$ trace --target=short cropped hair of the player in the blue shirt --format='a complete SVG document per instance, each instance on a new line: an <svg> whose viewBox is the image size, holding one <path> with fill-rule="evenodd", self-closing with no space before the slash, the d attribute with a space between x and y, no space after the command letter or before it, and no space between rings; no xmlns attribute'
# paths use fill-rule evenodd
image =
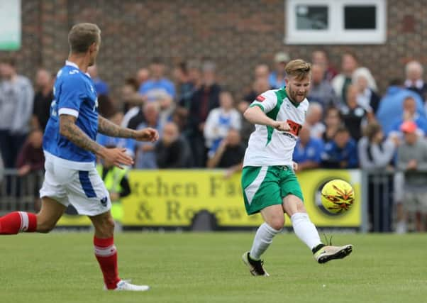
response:
<svg viewBox="0 0 427 303"><path fill-rule="evenodd" d="M90 45L101 42L101 30L94 23L77 23L68 33L71 53L86 53Z"/></svg>

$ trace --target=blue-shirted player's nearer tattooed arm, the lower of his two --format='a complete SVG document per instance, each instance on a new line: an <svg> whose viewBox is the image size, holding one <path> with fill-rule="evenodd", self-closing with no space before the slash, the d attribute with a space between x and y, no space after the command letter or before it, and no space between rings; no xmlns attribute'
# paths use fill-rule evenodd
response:
<svg viewBox="0 0 427 303"><path fill-rule="evenodd" d="M60 115L60 134L79 148L89 150L98 157L113 162L119 168L121 165L133 165L133 159L126 154L126 148L105 148L93 141L76 125L76 117Z"/></svg>

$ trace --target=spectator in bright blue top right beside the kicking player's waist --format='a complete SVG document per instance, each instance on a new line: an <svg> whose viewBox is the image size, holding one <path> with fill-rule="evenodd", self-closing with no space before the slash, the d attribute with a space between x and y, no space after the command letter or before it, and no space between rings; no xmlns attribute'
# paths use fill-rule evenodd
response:
<svg viewBox="0 0 427 303"><path fill-rule="evenodd" d="M299 131L292 160L298 163L298 171L310 170L320 166L323 141L311 136L309 124L304 124Z"/></svg>

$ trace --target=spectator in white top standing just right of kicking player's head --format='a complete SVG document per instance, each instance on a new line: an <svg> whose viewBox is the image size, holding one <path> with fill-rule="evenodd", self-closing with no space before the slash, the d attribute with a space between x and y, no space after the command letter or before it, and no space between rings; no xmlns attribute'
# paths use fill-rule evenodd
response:
<svg viewBox="0 0 427 303"><path fill-rule="evenodd" d="M353 53L344 53L341 57L341 72L332 79L332 87L342 104L345 104L347 96L347 87L351 84L353 72L359 63Z"/></svg>

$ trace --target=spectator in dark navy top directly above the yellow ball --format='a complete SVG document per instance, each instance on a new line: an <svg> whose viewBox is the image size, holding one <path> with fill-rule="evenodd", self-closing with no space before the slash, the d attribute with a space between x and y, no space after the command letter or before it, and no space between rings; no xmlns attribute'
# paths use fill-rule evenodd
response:
<svg viewBox="0 0 427 303"><path fill-rule="evenodd" d="M357 145L345 126L340 126L333 141L325 144L321 160L324 168L357 167Z"/></svg>

